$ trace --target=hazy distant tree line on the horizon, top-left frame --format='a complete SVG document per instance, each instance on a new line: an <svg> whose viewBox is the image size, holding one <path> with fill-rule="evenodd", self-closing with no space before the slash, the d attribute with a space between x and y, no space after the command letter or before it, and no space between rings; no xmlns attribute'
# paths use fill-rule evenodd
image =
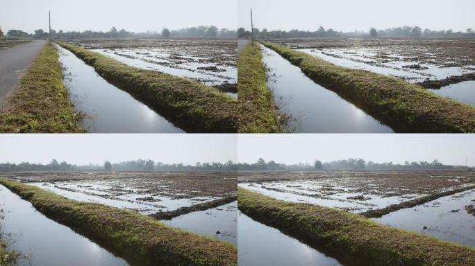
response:
<svg viewBox="0 0 475 266"><path fill-rule="evenodd" d="M0 33L3 33L0 28ZM23 30L12 29L8 30L6 33L8 37L13 38L22 38L22 39L47 39L49 37L49 32L38 29L34 33L26 33ZM0 37L2 34L0 34ZM168 28L163 28L159 33L156 31L147 31L144 33L134 33L122 29L117 29L112 27L109 31L92 31L84 30L80 31L63 31L63 30L53 30L51 29L51 37L53 39L88 39L88 38L126 38L126 37L137 37L137 38L160 38L160 37L237 37L238 33L236 30L228 30L227 28L217 28L216 26L197 26L190 28L181 28L178 30L169 30Z"/></svg>

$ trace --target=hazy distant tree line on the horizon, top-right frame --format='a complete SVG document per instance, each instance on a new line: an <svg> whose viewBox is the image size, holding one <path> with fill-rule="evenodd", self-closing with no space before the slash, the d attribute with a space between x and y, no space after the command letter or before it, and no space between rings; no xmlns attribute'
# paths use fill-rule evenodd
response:
<svg viewBox="0 0 475 266"><path fill-rule="evenodd" d="M453 38L453 37L475 37L475 31L467 28L465 32L453 30L431 30L426 28L422 30L419 26L403 26L397 28L387 28L377 30L370 28L367 32L355 30L353 32L344 33L342 31L333 30L333 28L325 29L319 26L317 30L260 30L254 28L254 37L260 39L279 39L279 38L298 38L298 37L433 37L433 38ZM238 28L238 37L249 38L251 31L244 28Z"/></svg>

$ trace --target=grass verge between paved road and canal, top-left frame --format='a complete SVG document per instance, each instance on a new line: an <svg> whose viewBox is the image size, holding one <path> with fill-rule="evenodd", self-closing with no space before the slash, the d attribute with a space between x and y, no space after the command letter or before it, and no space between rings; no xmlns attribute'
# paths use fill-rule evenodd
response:
<svg viewBox="0 0 475 266"><path fill-rule="evenodd" d="M63 84L58 51L46 44L1 111L0 132L83 132L81 119Z"/></svg>

